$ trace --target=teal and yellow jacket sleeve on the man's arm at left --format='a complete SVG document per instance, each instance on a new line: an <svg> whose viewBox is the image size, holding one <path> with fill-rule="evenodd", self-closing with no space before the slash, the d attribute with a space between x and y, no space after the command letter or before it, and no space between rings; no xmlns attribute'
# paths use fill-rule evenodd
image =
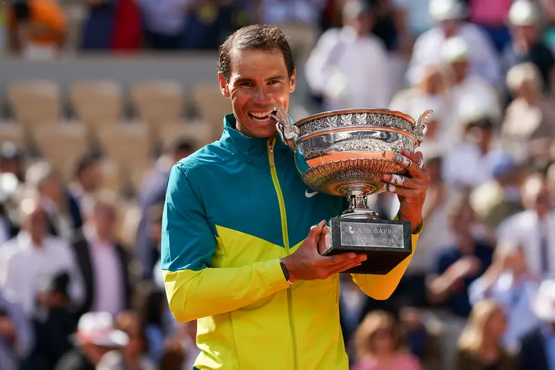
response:
<svg viewBox="0 0 555 370"><path fill-rule="evenodd" d="M278 258L212 267L216 238L183 165L171 169L162 220L162 270L169 308L187 322L237 310L289 287Z"/></svg>

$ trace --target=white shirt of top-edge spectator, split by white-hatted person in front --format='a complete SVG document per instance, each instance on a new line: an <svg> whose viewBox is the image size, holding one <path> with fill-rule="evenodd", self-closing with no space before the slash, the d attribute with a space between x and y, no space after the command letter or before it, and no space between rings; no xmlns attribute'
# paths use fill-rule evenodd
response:
<svg viewBox="0 0 555 370"><path fill-rule="evenodd" d="M501 66L488 35L479 26L469 23L460 26L458 35L471 45L472 73L483 76L495 86L499 85L502 82ZM416 39L407 70L407 80L411 85L416 85L422 79L427 67L437 66L442 62L441 50L445 40L445 34L439 27L422 33Z"/></svg>

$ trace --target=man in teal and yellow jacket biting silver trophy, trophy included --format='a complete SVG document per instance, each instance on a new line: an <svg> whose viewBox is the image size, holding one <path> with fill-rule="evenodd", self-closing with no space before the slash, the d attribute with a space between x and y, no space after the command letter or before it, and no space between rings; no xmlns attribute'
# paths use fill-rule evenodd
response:
<svg viewBox="0 0 555 370"><path fill-rule="evenodd" d="M339 274L379 300L398 286L422 230L427 112L294 122L296 69L273 26L230 35L218 69L233 112L219 141L171 169L162 224L171 312L197 320L194 369L347 370ZM393 221L366 206L381 191L398 194Z"/></svg>

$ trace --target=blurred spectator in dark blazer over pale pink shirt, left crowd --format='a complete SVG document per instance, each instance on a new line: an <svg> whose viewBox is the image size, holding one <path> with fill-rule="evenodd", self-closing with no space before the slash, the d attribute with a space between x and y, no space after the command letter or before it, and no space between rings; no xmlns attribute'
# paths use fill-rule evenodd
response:
<svg viewBox="0 0 555 370"><path fill-rule="evenodd" d="M115 241L117 197L98 194L85 208L87 222L73 248L85 283L85 298L78 317L85 312L118 314L130 308L130 256Z"/></svg>

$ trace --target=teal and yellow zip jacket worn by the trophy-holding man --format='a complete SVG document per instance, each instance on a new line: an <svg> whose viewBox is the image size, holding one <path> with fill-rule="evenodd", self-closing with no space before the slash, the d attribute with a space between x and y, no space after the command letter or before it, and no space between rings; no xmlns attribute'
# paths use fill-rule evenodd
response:
<svg viewBox="0 0 555 370"><path fill-rule="evenodd" d="M198 319L195 368L347 370L339 276L290 287L279 263L345 201L314 195L279 137L246 137L235 122L225 116L221 140L180 160L168 181L162 269L173 315ZM410 260L352 278L386 299Z"/></svg>

